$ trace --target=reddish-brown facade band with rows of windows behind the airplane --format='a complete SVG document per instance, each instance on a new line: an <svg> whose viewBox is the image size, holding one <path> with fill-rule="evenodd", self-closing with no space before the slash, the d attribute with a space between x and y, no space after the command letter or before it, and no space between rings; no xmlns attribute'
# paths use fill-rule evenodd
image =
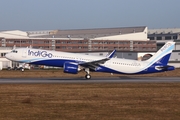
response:
<svg viewBox="0 0 180 120"><path fill-rule="evenodd" d="M126 40L63 40L63 39L1 39L2 47L27 47L46 50L81 51L156 51L156 41Z"/></svg>

